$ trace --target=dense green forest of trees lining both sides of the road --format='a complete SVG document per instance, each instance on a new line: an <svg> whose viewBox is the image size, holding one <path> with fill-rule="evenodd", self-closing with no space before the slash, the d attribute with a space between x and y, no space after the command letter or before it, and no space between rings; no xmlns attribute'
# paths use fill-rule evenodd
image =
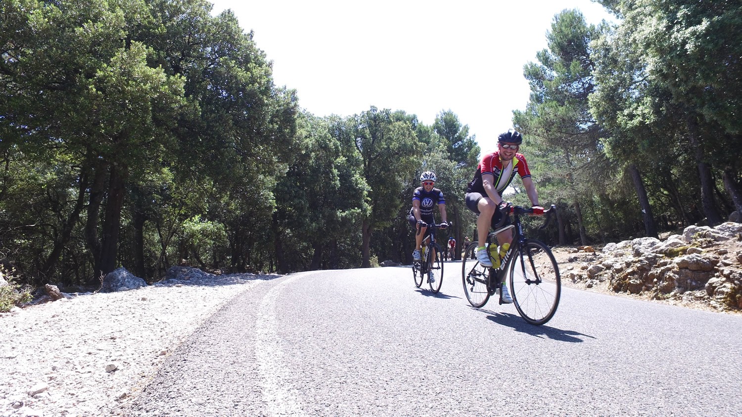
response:
<svg viewBox="0 0 742 417"><path fill-rule="evenodd" d="M206 0L0 1L0 258L26 284L409 263L424 170L449 233L473 236L480 148L451 110L309 114ZM742 4L600 3L617 24L564 10L524 63L513 126L559 207L529 233L604 244L726 221L742 209Z"/></svg>

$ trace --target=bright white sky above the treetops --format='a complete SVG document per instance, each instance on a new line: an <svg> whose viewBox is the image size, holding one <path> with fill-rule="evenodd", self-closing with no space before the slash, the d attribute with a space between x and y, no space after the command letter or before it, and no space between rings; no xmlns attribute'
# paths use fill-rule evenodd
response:
<svg viewBox="0 0 742 417"><path fill-rule="evenodd" d="M232 9L273 61L277 85L316 116L404 110L433 124L452 110L494 150L528 103L523 65L546 47L554 15L614 20L590 0L211 0ZM528 138L526 138L528 140Z"/></svg>

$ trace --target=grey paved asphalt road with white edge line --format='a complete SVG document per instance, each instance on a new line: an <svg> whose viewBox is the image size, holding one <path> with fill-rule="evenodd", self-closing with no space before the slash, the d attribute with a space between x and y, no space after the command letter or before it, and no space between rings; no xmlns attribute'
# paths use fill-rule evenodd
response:
<svg viewBox="0 0 742 417"><path fill-rule="evenodd" d="M298 273L220 310L126 416L740 416L742 316L565 288L467 304L408 267Z"/></svg>

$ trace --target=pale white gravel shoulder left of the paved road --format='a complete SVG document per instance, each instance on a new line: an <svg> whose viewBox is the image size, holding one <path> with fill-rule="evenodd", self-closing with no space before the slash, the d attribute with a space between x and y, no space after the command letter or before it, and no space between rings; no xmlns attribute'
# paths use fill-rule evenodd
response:
<svg viewBox="0 0 742 417"><path fill-rule="evenodd" d="M223 304L277 277L171 279L1 313L0 417L108 413Z"/></svg>

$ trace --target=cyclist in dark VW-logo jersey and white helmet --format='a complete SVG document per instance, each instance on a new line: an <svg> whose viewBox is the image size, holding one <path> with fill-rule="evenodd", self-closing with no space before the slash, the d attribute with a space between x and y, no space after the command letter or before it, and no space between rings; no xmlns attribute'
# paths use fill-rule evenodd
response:
<svg viewBox="0 0 742 417"><path fill-rule="evenodd" d="M441 212L441 229L448 227L446 221L446 199L444 199L441 190L433 187L436 184L436 174L432 171L425 171L420 176L420 181L422 187L415 189L413 193L413 208L410 209L410 214L407 216L410 224L419 230L419 233L415 235L415 251L413 252L413 259L416 261L422 259L420 245L422 244L422 239L425 237L427 224L436 223L436 219L433 217L433 207L436 204L438 205L438 210Z"/></svg>

